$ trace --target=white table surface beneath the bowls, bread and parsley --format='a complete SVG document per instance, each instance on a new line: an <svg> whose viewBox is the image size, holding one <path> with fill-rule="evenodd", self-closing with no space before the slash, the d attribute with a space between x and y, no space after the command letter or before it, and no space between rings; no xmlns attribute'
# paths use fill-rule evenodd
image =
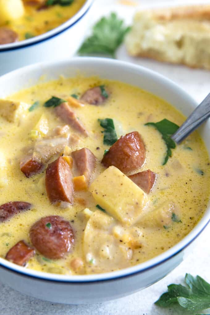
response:
<svg viewBox="0 0 210 315"><path fill-rule="evenodd" d="M136 1L142 7L157 5L156 0ZM179 1L183 3L183 1ZM184 1L185 3L201 3L201 1ZM210 2L210 1L202 1ZM162 3L174 4L174 0L165 0ZM123 6L115 0L96 0L91 9L92 21L110 11L117 11L118 14L130 23L134 7ZM97 15L95 14L97 10ZM98 14L99 12L99 14ZM210 92L210 72L204 70L189 69L184 66L173 66L158 63L152 60L134 59L128 57L125 47L122 46L117 58L153 69L178 83L198 102ZM195 314L196 312L185 312L183 308L173 306L169 309L159 308L154 302L166 291L167 285L181 283L186 272L192 275L200 275L210 282L210 246L209 246L210 225L201 233L194 243L192 252L185 260L171 272L167 277L158 283L119 300L107 303L97 303L87 306L62 305L37 300L10 289L7 285L0 283L0 315L182 315ZM24 284L23 284L24 285ZM197 312L199 313L199 312ZM209 314L210 309L203 312Z"/></svg>

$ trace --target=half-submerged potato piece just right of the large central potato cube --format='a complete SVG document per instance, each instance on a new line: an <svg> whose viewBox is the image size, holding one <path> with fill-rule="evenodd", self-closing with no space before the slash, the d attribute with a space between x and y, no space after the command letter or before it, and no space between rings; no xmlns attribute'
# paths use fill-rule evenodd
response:
<svg viewBox="0 0 210 315"><path fill-rule="evenodd" d="M172 224L174 209L174 203L172 201L166 201L154 211L145 215L139 223L146 227L168 227Z"/></svg>

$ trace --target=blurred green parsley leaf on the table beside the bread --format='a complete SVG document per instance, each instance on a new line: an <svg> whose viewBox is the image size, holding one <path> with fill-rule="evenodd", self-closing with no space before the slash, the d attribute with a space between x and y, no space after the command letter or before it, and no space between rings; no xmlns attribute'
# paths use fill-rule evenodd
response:
<svg viewBox="0 0 210 315"><path fill-rule="evenodd" d="M94 26L92 35L84 41L78 53L102 54L115 58L116 49L122 44L125 34L130 27L124 26L116 13L109 17L102 17Z"/></svg>

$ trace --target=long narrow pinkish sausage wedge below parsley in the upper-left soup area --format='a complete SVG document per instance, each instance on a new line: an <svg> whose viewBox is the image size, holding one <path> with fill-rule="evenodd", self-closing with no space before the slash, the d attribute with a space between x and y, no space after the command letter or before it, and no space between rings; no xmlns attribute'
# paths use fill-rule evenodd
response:
<svg viewBox="0 0 210 315"><path fill-rule="evenodd" d="M73 112L67 102L61 103L59 106L55 107L56 114L72 128L79 131L81 134L88 136L87 131L82 126L82 124L77 119L75 112Z"/></svg>

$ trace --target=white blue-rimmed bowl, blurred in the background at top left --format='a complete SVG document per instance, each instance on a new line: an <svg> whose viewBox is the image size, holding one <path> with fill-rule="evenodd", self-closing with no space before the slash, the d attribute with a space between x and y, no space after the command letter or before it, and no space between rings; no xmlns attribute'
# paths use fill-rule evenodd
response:
<svg viewBox="0 0 210 315"><path fill-rule="evenodd" d="M86 0L71 19L51 31L24 41L0 45L0 75L35 62L72 57L87 31L88 11L92 3L93 0Z"/></svg>

